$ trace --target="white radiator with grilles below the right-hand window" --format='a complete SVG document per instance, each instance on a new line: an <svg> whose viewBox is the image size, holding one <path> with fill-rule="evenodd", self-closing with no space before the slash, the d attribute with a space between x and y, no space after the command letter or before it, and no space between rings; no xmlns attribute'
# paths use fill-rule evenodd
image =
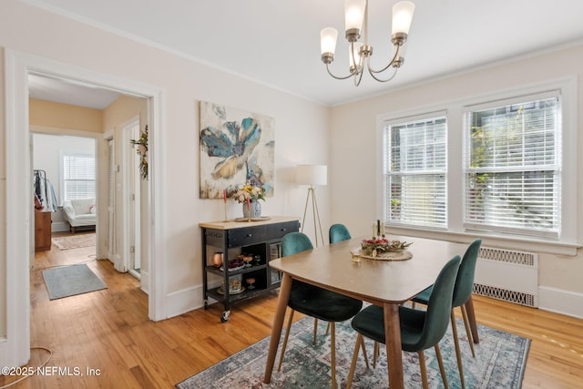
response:
<svg viewBox="0 0 583 389"><path fill-rule="evenodd" d="M506 302L538 307L538 254L480 248L474 292Z"/></svg>

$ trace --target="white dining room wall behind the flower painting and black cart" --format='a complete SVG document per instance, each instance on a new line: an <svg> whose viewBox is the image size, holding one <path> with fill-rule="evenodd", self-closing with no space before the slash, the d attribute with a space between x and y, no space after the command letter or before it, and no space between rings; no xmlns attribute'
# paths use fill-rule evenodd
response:
<svg viewBox="0 0 583 389"><path fill-rule="evenodd" d="M193 41L196 45L196 41ZM294 97L248 79L174 56L150 46L86 26L16 0L0 4L0 49L9 48L67 66L84 68L163 91L159 149L160 176L166 199L161 223L167 277L163 304L166 316L199 307L200 230L199 222L221 220L221 200L200 200L199 193L199 113L200 100L258 112L275 118L275 195L263 206L265 215L302 216L305 188L293 183L292 168L299 163L326 163L328 160L329 108ZM4 63L4 61L2 61ZM3 73L4 74L4 73ZM0 94L5 80L0 78ZM1 101L1 100L0 100ZM4 104L0 107L4 126ZM5 147L5 128L0 127L0 146ZM2 153L0 189L5 193L6 171ZM319 190L321 217L329 220L328 190ZM5 196L3 196L5 199ZM240 214L235 201L229 204L230 217ZM10 204L5 206L9 207ZM4 205L3 205L4 207ZM4 213L0 225L5 224ZM9 228L13 226L8 226ZM1 230L5 239L5 230ZM309 231L308 231L309 232ZM23 259L24 260L24 259ZM26 261L26 260L25 260ZM4 271L5 251L0 252ZM3 274L0 271L0 275ZM0 292L2 293L2 292ZM5 312L6 296L0 294L0 311ZM3 319L3 315L0 315ZM23 323L26 325L26 323ZM0 322L0 338L5 320Z"/></svg>

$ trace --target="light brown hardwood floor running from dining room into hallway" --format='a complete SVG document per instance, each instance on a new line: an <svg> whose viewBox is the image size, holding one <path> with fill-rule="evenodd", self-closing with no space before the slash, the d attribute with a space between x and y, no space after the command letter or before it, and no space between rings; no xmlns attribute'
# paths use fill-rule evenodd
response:
<svg viewBox="0 0 583 389"><path fill-rule="evenodd" d="M220 304L151 322L138 280L109 261L95 261L94 253L54 246L36 253L31 344L52 356L46 375L34 374L12 388L172 388L271 333L276 292L235 304L226 323L220 322ZM41 271L86 261L107 289L49 301ZM481 296L475 307L478 322L532 339L524 388L583 388L583 320ZM36 368L47 356L33 349L28 366ZM15 378L0 376L0 386Z"/></svg>

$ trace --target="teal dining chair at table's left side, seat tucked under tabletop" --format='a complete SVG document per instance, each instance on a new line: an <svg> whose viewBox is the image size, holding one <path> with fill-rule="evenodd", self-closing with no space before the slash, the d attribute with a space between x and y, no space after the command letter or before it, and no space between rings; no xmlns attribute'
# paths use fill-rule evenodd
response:
<svg viewBox="0 0 583 389"><path fill-rule="evenodd" d="M281 241L281 255L287 257L296 252L312 250L312 241L302 232L291 232L286 234ZM281 346L280 363L278 371L281 370L283 355L288 342L288 336L292 328L293 312L302 312L314 319L320 319L331 323L331 365L332 365L332 388L336 387L336 331L335 322L344 322L351 319L363 308L363 302L344 296L343 294L328 291L309 283L292 280L292 290L288 300L288 307L292 309L288 320L287 330ZM314 326L315 331L315 326Z"/></svg>

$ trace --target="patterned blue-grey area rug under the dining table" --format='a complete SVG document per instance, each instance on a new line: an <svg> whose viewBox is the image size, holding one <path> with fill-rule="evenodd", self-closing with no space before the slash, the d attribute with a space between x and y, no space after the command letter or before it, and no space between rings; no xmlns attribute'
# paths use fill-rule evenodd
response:
<svg viewBox="0 0 583 389"><path fill-rule="evenodd" d="M478 326L480 343L476 344L476 358L472 357L463 322L458 322L460 347L464 363L465 387L467 388L520 388L527 363L530 340ZM313 319L303 318L292 325L288 349L285 353L281 372L277 372L279 353L275 360L271 384L262 384L265 360L270 337L252 344L250 347L231 355L210 368L176 384L179 389L193 388L324 388L330 387L330 335L325 336L325 323L319 328L317 345L312 344ZM285 331L285 330L284 330ZM356 333L350 321L336 324L336 380L341 388L346 386L350 370ZM281 334L281 339L283 339ZM461 387L451 325L440 343L444 357L447 382L450 388ZM281 344L280 344L281 349ZM373 343L366 343L371 368L367 369L363 355L359 356L354 374L353 388L386 388L387 361L385 353L372 368ZM383 350L383 348L381 348ZM429 387L443 387L435 350L425 351ZM404 382L406 388L421 387L421 374L416 353L403 353Z"/></svg>

